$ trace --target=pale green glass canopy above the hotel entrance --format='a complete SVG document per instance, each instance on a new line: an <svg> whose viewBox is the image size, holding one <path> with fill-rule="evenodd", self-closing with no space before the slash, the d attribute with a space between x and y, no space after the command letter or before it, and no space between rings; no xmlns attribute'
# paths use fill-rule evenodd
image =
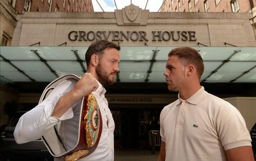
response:
<svg viewBox="0 0 256 161"><path fill-rule="evenodd" d="M1 82L51 82L65 73L83 75L84 54L78 46L1 46ZM176 47L121 47L118 82L165 82L168 53ZM202 82L256 83L255 47L192 47L204 59Z"/></svg>

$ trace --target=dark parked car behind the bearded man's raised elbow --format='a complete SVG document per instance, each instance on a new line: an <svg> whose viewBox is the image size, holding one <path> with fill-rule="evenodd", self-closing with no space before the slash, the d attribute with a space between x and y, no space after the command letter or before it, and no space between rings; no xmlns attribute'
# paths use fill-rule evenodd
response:
<svg viewBox="0 0 256 161"><path fill-rule="evenodd" d="M41 138L25 144L17 144L13 132L15 126L26 111L15 113L11 121L1 132L0 161L53 161L52 155Z"/></svg>

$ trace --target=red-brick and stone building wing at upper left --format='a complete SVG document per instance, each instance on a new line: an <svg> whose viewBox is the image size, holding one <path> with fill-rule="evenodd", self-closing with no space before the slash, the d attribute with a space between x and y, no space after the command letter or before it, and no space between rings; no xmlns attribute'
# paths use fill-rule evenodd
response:
<svg viewBox="0 0 256 161"><path fill-rule="evenodd" d="M1 0L1 46L12 43L12 35L17 25L17 14L25 11L38 12L93 12L91 0Z"/></svg>

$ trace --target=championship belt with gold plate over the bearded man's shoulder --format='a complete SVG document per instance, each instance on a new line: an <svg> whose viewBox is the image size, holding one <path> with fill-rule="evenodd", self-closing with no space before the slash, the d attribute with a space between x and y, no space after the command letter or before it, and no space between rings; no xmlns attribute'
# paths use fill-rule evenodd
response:
<svg viewBox="0 0 256 161"><path fill-rule="evenodd" d="M74 79L77 82L81 77L75 74L65 74L52 81L45 88L39 103L49 96L49 93L61 82ZM62 94L62 93L59 93ZM74 117L73 117L74 118ZM74 118L76 119L76 118ZM64 158L65 161L76 161L90 155L96 149L102 133L102 116L99 105L93 93L82 98L79 115L79 128L77 129L78 140L74 147L67 149L58 133L61 121L47 131L41 138L49 153L55 158ZM74 134L74 133L73 133Z"/></svg>

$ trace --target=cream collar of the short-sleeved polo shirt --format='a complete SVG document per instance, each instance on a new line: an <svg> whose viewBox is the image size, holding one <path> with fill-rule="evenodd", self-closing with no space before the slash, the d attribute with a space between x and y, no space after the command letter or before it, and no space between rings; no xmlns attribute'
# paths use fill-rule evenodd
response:
<svg viewBox="0 0 256 161"><path fill-rule="evenodd" d="M186 102L189 102L193 105L197 105L199 102L201 102L205 96L206 96L207 92L204 90L204 87L201 86L201 88L194 93L192 96L190 96L188 99L186 99ZM178 105L183 101L183 99L180 98L180 93L178 94Z"/></svg>

